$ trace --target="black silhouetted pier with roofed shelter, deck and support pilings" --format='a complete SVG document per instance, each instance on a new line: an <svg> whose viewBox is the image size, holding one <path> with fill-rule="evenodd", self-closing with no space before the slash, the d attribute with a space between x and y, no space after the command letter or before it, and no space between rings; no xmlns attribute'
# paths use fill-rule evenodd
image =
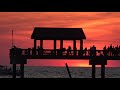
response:
<svg viewBox="0 0 120 90"><path fill-rule="evenodd" d="M86 36L82 28L44 28L35 27L31 35L34 45L32 48L21 49L13 47L10 49L10 64L13 65L13 78L16 78L16 64L20 64L20 78L24 78L24 64L28 59L75 59L89 60L92 65L92 78L95 78L96 65L101 65L101 78L105 78L105 65L108 60L120 60L120 51L112 54L111 50L84 49ZM44 49L44 40L53 40L53 49ZM57 40L60 40L60 48L57 49ZM64 48L63 41L73 41L73 49ZM80 48L76 48L76 40L79 40ZM39 45L37 45L39 41ZM27 42L27 41L26 41Z"/></svg>

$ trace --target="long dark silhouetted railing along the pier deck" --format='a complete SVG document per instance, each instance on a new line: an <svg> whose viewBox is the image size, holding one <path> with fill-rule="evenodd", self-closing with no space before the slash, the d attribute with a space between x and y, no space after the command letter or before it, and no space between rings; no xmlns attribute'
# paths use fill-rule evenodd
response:
<svg viewBox="0 0 120 90"><path fill-rule="evenodd" d="M120 52L110 50L60 50L60 49L10 49L10 55L58 55L58 56L120 56Z"/></svg>

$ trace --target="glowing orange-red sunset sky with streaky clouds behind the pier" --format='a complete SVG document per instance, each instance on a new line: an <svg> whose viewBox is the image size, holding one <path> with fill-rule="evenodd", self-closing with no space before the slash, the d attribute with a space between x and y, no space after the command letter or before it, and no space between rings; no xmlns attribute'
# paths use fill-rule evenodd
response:
<svg viewBox="0 0 120 90"><path fill-rule="evenodd" d="M95 45L102 49L104 45L120 45L120 12L0 12L0 64L10 65L12 30L17 47L31 48L34 27L83 28L86 35L84 48ZM72 41L66 41L64 47L68 45L72 46ZM53 42L45 41L44 48L53 48ZM70 66L89 66L88 61L83 60L28 60L28 65L65 66L66 62ZM118 67L120 61L109 61L107 66Z"/></svg>

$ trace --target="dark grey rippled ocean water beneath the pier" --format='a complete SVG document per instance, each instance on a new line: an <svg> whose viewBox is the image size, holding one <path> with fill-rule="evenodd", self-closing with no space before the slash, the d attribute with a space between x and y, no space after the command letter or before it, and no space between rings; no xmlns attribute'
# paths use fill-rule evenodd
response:
<svg viewBox="0 0 120 90"><path fill-rule="evenodd" d="M17 67L19 69L19 67ZM90 67L69 67L72 78L92 78ZM69 78L66 67L34 67L25 66L25 78ZM96 78L101 78L101 69L97 67ZM120 78L119 67L107 67L105 69L106 78ZM4 75L0 78L12 78L11 75ZM19 78L19 77L17 77Z"/></svg>

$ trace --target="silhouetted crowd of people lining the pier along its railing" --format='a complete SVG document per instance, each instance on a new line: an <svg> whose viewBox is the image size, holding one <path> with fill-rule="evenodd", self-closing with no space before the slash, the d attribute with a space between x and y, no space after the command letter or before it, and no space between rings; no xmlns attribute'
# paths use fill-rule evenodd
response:
<svg viewBox="0 0 120 90"><path fill-rule="evenodd" d="M16 46L13 46L10 54L11 55L22 55L23 54L23 49L18 48ZM47 51L45 49L43 49L42 47L38 46L36 49L33 48L28 48L28 49L24 49L24 54L25 55L45 55L47 53ZM56 49L56 50L51 50L49 52L49 55L81 55L81 56L96 56L97 53L99 53L99 55L102 56L119 56L120 55L120 46L113 46L112 44L108 47L104 46L103 50L97 50L96 46L93 45L91 46L89 49L84 48L83 50L77 50L77 48L75 48L74 50L72 50L71 46L68 46L68 48L60 48L60 49Z"/></svg>

